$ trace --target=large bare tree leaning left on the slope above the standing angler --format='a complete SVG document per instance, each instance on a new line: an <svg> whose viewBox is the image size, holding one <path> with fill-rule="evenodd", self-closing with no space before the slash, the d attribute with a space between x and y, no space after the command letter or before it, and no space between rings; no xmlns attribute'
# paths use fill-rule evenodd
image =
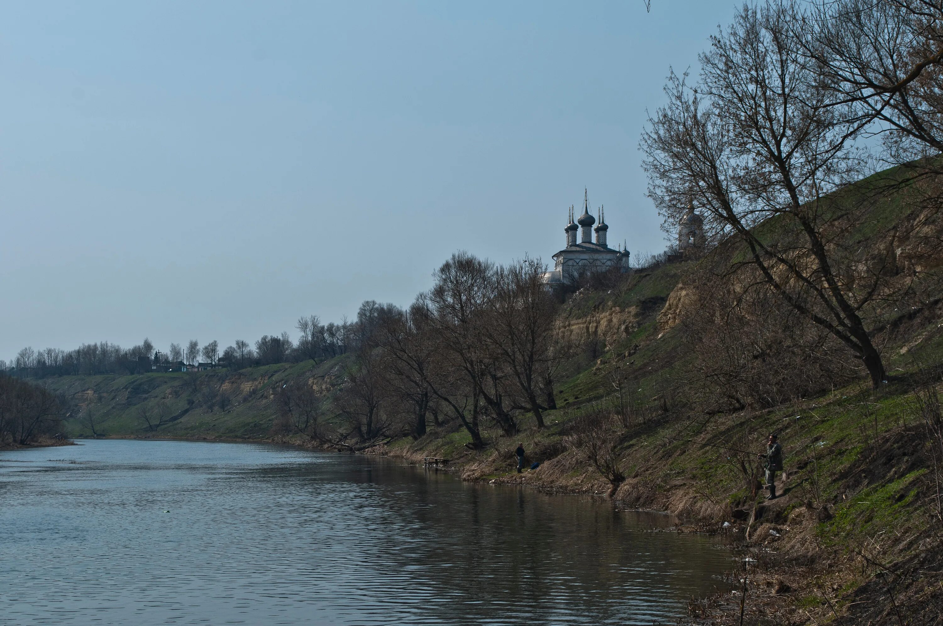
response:
<svg viewBox="0 0 943 626"><path fill-rule="evenodd" d="M667 226L693 206L715 235L741 241L747 256L735 270L755 268L856 354L877 387L885 366L862 309L884 295L886 259L862 262L842 247L860 214L835 193L864 172L851 145L862 129L787 35L800 17L788 2L742 8L701 56L700 84L671 75L669 104L641 141L650 195Z"/></svg>

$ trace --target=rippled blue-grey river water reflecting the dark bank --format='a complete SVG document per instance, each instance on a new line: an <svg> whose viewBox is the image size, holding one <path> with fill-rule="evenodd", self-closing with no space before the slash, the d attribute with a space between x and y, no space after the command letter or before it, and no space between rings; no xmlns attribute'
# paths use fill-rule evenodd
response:
<svg viewBox="0 0 943 626"><path fill-rule="evenodd" d="M0 624L652 624L730 552L598 498L264 444L0 452Z"/></svg>

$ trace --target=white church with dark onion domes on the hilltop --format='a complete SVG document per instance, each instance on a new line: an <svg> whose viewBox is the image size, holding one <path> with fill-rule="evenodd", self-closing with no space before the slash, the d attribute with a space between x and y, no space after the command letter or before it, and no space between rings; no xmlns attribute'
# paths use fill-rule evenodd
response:
<svg viewBox="0 0 943 626"><path fill-rule="evenodd" d="M609 230L605 223L603 207L599 209L599 223L589 215L589 202L586 189L583 191L583 215L573 222L573 207L570 207L570 222L563 231L567 234L567 247L554 255L553 272L544 273L543 280L547 285L571 283L582 275L591 272L606 272L618 268L620 272L631 272L629 267L629 251L620 247L613 250L605 243L605 236ZM579 224L579 225L577 225ZM580 232L580 240L576 240L576 231ZM593 241L593 233L596 240Z"/></svg>

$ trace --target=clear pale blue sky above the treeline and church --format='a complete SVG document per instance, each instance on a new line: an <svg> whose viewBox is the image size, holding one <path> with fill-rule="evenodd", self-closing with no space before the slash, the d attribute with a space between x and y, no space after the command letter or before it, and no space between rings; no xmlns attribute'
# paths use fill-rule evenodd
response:
<svg viewBox="0 0 943 626"><path fill-rule="evenodd" d="M3 2L0 358L405 305L550 261L584 186L657 252L645 110L735 6Z"/></svg>

